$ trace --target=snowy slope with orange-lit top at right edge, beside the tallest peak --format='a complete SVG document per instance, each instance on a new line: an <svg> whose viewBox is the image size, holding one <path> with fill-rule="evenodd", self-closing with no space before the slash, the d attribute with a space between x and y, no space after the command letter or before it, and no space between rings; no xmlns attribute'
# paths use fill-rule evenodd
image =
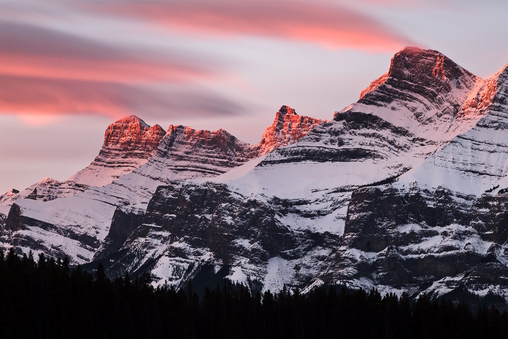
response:
<svg viewBox="0 0 508 339"><path fill-rule="evenodd" d="M444 184L476 196L503 180L508 174L508 65L475 88L462 107L462 115L480 117L476 124L401 180L429 189Z"/></svg>

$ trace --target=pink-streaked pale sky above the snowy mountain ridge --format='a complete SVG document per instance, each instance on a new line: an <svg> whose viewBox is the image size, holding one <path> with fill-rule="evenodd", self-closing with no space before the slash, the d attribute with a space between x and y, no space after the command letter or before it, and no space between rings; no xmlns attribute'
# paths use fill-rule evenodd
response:
<svg viewBox="0 0 508 339"><path fill-rule="evenodd" d="M404 46L489 77L507 16L505 0L0 0L0 194L67 179L126 115L249 143L282 105L331 119Z"/></svg>

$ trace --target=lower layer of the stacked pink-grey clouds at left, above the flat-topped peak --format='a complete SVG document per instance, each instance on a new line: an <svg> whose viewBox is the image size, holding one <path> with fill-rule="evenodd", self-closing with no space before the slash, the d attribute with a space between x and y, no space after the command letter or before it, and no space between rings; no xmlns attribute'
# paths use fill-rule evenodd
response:
<svg viewBox="0 0 508 339"><path fill-rule="evenodd" d="M239 114L244 108L200 90L169 91L116 82L0 75L0 111L7 114L102 114L114 118Z"/></svg>

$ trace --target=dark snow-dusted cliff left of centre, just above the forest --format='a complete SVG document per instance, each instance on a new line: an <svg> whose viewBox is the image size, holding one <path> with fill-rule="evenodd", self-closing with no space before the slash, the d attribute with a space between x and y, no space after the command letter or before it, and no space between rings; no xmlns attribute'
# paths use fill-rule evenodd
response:
<svg viewBox="0 0 508 339"><path fill-rule="evenodd" d="M124 267L133 272L150 270L158 282L176 285L210 264L215 272L226 265L230 278L248 276L251 284L276 286L279 279L291 283L289 276L277 274L283 262L299 267L296 279L310 283L315 267L339 237L292 229L279 222L284 213L288 211L281 205L242 196L223 183L160 186L142 222L117 254L107 257L99 252L96 259L114 258L111 272ZM120 236L113 227L109 234ZM268 261L272 264L265 267Z"/></svg>

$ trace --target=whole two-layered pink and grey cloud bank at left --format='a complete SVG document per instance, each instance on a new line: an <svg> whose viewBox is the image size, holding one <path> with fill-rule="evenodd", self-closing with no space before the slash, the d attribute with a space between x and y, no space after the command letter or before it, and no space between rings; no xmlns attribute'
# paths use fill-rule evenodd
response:
<svg viewBox="0 0 508 339"><path fill-rule="evenodd" d="M210 57L126 48L10 21L0 22L0 47L3 113L119 117L243 111L239 104L194 85L215 78L224 68ZM181 89L175 89L178 84Z"/></svg>

